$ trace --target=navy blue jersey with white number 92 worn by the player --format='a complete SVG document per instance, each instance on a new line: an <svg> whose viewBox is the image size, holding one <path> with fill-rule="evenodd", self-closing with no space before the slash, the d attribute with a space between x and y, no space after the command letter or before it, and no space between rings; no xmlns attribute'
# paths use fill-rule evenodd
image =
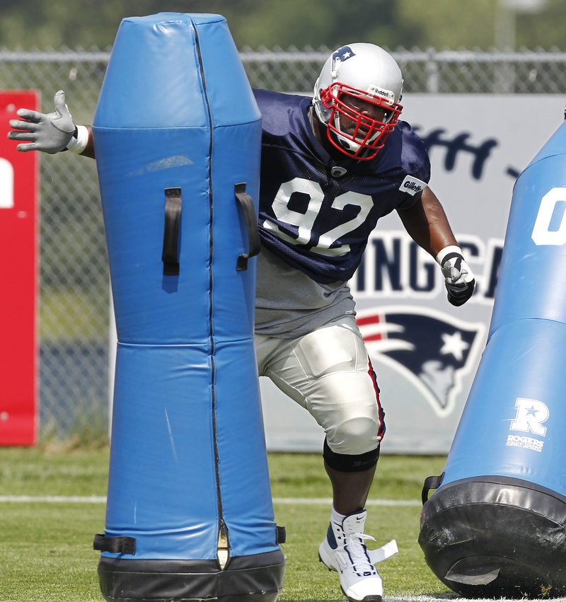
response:
<svg viewBox="0 0 566 602"><path fill-rule="evenodd" d="M262 114L262 243L316 282L345 282L378 219L410 207L428 183L424 144L398 122L375 158L336 161L313 134L311 98L254 94Z"/></svg>

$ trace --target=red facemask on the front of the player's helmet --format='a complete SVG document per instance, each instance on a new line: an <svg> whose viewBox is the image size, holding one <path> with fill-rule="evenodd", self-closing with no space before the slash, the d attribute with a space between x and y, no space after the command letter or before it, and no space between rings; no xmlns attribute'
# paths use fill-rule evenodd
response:
<svg viewBox="0 0 566 602"><path fill-rule="evenodd" d="M323 121L328 140L335 148L358 161L369 161L379 153L403 110L402 105L393 100L393 93L383 90L379 90L379 94L377 92L372 95L371 91L352 88L340 82L320 91L320 103L328 111L325 111L328 120ZM392 98L385 98L384 95ZM362 104L360 100L363 104L371 103L383 110L382 120L370 117L368 112L372 111L357 110L357 106Z"/></svg>

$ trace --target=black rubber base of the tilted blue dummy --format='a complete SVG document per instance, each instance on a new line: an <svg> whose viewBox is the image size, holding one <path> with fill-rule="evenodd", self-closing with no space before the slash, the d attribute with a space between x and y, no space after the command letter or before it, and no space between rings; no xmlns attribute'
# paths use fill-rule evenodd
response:
<svg viewBox="0 0 566 602"><path fill-rule="evenodd" d="M508 477L440 487L422 507L432 572L464 598L566 595L566 498Z"/></svg>

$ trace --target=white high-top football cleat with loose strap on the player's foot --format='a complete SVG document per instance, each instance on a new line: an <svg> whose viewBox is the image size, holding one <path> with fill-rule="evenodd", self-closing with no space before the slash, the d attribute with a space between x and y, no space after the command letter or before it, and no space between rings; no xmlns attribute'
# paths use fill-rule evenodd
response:
<svg viewBox="0 0 566 602"><path fill-rule="evenodd" d="M346 516L342 524L330 521L328 533L318 548L320 562L330 571L338 572L342 592L350 602L381 602L383 583L374 563L398 552L395 540L378 550L367 550L364 540L375 541L375 538L364 534L366 515L362 510Z"/></svg>

